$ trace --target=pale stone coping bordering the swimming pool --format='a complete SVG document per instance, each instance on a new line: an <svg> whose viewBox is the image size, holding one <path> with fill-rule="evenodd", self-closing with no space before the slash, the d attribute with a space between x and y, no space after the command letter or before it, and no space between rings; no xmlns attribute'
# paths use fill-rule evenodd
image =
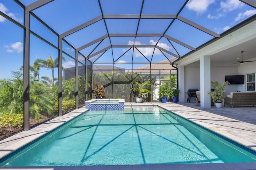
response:
<svg viewBox="0 0 256 170"><path fill-rule="evenodd" d="M227 138L229 138L230 140L234 140L235 142L238 142L239 144L242 144L243 146L246 146L248 148L251 148L252 150L256 150L256 144L246 141L243 138L240 138L238 136L235 136L233 134L230 134L228 132L228 130L223 129L222 127L218 127L218 126L212 126L209 125L209 123L207 122L201 122L201 121L196 121L198 119L198 116L202 117L205 115L209 115L209 114L213 114L213 113L207 113L204 112L204 115L194 115L191 116L191 114L186 115L188 113L183 113L183 112L188 112L188 107L184 107L184 106L180 106L179 103L124 103L125 107L129 107L129 106L160 106L166 110L169 110L185 119L188 119L202 127L208 128L209 130L212 130L222 136L225 136ZM179 109L177 109L177 107ZM176 109L177 110L176 110ZM185 111L182 111L183 110ZM190 108L190 110L192 109L191 112L195 112L197 111L198 113L202 112L201 110L195 109L195 108ZM10 136L4 140L0 140L0 158L10 154L12 151L17 150L19 148L21 148L22 146L28 144L29 142L39 138L40 136L46 134L47 132L50 132L51 130L53 130L54 128L57 128L61 125L63 125L64 123L70 121L71 119L79 116L80 114L84 113L85 111L87 111L88 109L86 109L85 107L81 107L77 110L74 110L70 113L67 113L61 117L56 117L48 122L42 123L41 125L38 125L30 130L24 130L18 134L15 134L13 136ZM215 115L216 119L221 119L222 116L220 115ZM195 119L196 118L196 119ZM231 119L230 119L231 120ZM252 125L252 124L251 124ZM53 167L54 170L56 169L76 169L76 168L81 168L81 169L170 169L170 168L174 168L176 169L177 167L179 167L179 169L255 169L256 167L256 162L249 162L249 163L221 163L221 164L158 164L158 165L129 165L129 166L68 166L68 167L64 167L64 166L59 166L59 167ZM83 168L82 168L83 167ZM154 168L155 167L155 168ZM158 168L157 168L158 167ZM206 168L207 167L207 168ZM26 169L28 167L19 167L19 169ZM32 168L32 167L29 167ZM52 167L36 167L36 169L51 169ZM15 167L0 167L0 169L17 169Z"/></svg>

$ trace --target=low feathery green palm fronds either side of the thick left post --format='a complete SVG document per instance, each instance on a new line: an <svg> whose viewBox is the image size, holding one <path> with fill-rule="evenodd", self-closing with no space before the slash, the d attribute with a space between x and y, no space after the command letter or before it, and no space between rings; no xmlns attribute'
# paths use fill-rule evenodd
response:
<svg viewBox="0 0 256 170"><path fill-rule="evenodd" d="M53 102L52 87L30 78L30 116L52 115ZM0 114L19 113L23 113L23 73L13 71L11 78L0 79Z"/></svg>

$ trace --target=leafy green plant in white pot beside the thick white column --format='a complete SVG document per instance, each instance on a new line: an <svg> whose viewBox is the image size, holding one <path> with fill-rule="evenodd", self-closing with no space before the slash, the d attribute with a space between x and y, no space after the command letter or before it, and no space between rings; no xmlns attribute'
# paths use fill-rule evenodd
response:
<svg viewBox="0 0 256 170"><path fill-rule="evenodd" d="M215 107L221 108L224 100L224 87L226 87L228 84L228 81L225 81L223 84L220 84L218 81L211 81L211 86L214 87L214 91L210 91L207 94L212 97L212 101L215 102Z"/></svg>

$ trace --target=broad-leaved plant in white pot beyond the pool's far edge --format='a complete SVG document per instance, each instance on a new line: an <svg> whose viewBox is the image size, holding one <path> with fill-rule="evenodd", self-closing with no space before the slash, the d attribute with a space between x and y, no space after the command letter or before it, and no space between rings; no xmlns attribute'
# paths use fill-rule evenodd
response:
<svg viewBox="0 0 256 170"><path fill-rule="evenodd" d="M142 102L142 95L146 95L148 93L152 93L150 89L147 89L147 85L152 85L150 81L144 81L142 83L139 83L137 81L132 81L133 84L135 84L134 87L130 89L130 91L135 91L138 92L138 96L136 97L136 103L141 103Z"/></svg>

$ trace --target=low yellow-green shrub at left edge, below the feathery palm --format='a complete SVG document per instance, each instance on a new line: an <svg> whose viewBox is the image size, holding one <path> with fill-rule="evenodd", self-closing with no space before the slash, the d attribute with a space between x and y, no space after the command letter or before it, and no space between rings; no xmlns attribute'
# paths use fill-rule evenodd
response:
<svg viewBox="0 0 256 170"><path fill-rule="evenodd" d="M19 128L23 126L23 114L0 115L0 127Z"/></svg>

